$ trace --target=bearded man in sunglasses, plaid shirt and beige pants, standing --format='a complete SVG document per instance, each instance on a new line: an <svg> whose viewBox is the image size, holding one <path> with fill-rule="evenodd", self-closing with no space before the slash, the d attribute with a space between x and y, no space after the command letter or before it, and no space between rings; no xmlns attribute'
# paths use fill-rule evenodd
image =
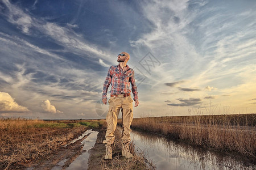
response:
<svg viewBox="0 0 256 170"><path fill-rule="evenodd" d="M130 55L126 52L118 54L117 62L119 65L110 66L108 75L103 85L102 102L106 104L106 93L110 83L112 88L110 90L109 112L106 116L108 129L106 130L106 140L103 141L106 146L105 159L112 159L112 145L114 144L114 131L117 128L117 117L121 109L122 112L122 156L126 158L133 158L130 153L130 125L133 120L133 99L135 107L139 105L138 91L134 79L134 71L126 63L130 59ZM129 88L131 83L131 90ZM133 92L133 99L131 99L131 91Z"/></svg>

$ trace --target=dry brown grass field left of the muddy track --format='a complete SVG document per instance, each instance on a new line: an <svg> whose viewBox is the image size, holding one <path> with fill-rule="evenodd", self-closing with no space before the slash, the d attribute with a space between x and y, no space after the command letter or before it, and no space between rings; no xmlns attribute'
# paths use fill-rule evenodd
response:
<svg viewBox="0 0 256 170"><path fill-rule="evenodd" d="M0 169L22 168L34 160L47 159L69 141L96 124L73 121L0 119ZM100 125L100 124L97 124Z"/></svg>

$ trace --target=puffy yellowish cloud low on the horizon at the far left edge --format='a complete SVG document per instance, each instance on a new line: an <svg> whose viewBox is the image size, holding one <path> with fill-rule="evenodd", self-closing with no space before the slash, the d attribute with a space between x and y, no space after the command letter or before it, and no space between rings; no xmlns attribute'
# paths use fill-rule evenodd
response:
<svg viewBox="0 0 256 170"><path fill-rule="evenodd" d="M0 91L0 112L29 112L26 107L23 107L14 101L13 97L8 93Z"/></svg>

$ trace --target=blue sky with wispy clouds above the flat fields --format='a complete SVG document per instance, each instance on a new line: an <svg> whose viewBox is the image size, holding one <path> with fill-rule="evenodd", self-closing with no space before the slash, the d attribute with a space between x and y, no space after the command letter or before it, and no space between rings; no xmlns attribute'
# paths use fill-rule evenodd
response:
<svg viewBox="0 0 256 170"><path fill-rule="evenodd" d="M135 71L134 117L255 113L255 8L254 0L2 0L0 117L105 118L102 88L121 52Z"/></svg>

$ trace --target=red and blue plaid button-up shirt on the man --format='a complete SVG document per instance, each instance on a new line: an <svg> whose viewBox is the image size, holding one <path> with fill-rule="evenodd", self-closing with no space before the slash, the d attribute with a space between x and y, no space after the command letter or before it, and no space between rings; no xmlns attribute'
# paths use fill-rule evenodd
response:
<svg viewBox="0 0 256 170"><path fill-rule="evenodd" d="M127 94L133 92L133 99L138 100L138 91L134 79L134 71L128 65L126 68L121 68L120 64L110 66L108 75L103 84L102 99L106 98L109 85L112 83L112 88L109 91L111 95ZM131 90L130 90L131 83Z"/></svg>

